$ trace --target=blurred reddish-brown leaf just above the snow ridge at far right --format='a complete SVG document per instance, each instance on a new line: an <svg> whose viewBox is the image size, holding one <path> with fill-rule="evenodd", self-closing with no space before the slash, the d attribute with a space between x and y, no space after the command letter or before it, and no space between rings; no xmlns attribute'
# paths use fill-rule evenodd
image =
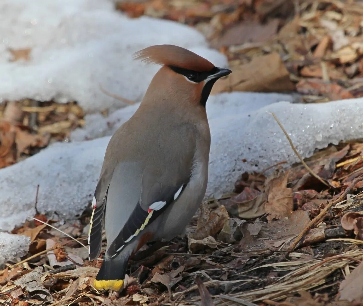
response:
<svg viewBox="0 0 363 306"><path fill-rule="evenodd" d="M353 98L353 95L347 89L337 83L327 83L318 78L302 79L296 84L296 89L301 94L322 94L333 101Z"/></svg>

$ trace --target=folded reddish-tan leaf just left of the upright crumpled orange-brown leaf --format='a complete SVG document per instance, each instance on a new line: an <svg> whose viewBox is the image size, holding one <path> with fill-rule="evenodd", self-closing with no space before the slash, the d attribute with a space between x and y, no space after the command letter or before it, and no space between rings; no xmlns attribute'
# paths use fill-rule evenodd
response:
<svg viewBox="0 0 363 306"><path fill-rule="evenodd" d="M265 193L246 187L240 194L225 201L224 205L233 217L253 219L265 213L266 202Z"/></svg>

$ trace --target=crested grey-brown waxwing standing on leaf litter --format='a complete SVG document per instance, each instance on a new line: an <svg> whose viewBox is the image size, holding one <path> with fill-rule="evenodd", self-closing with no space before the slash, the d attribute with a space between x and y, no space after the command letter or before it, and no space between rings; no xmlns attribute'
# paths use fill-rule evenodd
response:
<svg viewBox="0 0 363 306"><path fill-rule="evenodd" d="M231 73L175 45L150 46L134 58L162 67L106 149L88 238L92 261L105 227L97 290L121 290L129 258L147 242L182 233L199 208L211 144L205 106L213 84Z"/></svg>

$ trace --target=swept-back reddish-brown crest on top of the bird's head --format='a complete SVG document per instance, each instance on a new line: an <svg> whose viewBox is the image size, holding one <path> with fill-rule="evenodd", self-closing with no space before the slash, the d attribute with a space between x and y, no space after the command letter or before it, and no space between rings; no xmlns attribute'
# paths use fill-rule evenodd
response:
<svg viewBox="0 0 363 306"><path fill-rule="evenodd" d="M174 45L155 45L134 53L134 58L146 63L176 66L183 69L204 72L210 71L214 65L187 49Z"/></svg>

